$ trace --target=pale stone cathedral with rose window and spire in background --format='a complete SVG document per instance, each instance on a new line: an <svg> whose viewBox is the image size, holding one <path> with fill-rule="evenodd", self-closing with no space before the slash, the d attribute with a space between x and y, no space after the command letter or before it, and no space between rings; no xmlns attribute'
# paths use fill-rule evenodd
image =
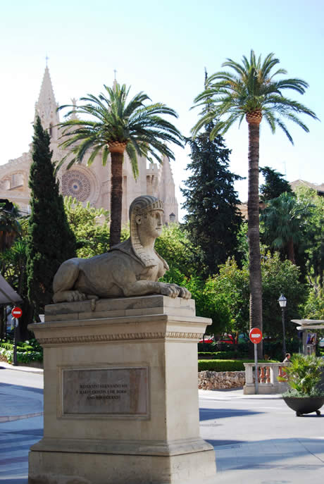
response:
<svg viewBox="0 0 324 484"><path fill-rule="evenodd" d="M76 101L73 99L73 104ZM42 126L51 137L52 160L61 161L68 151L62 149L60 144L60 123L58 104L54 97L49 68L46 66L42 87L38 101L35 104L35 116L39 116ZM87 166L87 159L82 163L75 163L67 169L71 156L68 156L58 171L58 180L61 193L75 197L78 201L87 203L96 208L110 209L111 193L111 166L108 159L106 166L101 164L101 155L97 156L91 166ZM110 158L110 157L109 157ZM0 199L8 199L20 208L23 213L30 213L30 189L28 179L30 164L32 162L32 145L26 153L18 159L8 161L0 166ZM175 198L175 184L170 168L170 161L165 156L163 163L149 163L147 159L138 159L139 175L135 180L132 167L127 154L124 155L123 164L123 212L122 224L128 221L128 208L133 199L139 195L153 195L164 202L164 223L178 220L177 199Z"/></svg>

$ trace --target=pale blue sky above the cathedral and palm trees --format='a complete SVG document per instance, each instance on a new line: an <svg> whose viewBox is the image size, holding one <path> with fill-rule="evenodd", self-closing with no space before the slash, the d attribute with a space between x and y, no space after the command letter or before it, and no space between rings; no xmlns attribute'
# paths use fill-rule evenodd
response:
<svg viewBox="0 0 324 484"><path fill-rule="evenodd" d="M104 84L112 84L116 69L118 82L131 85L131 94L144 91L174 108L177 127L188 136L199 113L189 108L203 88L205 67L211 74L226 58L241 61L251 49L263 57L274 52L289 77L309 82L304 96L291 96L324 122L323 13L320 0L6 2L0 18L0 164L20 156L31 142L46 55L59 104L99 94ZM322 183L323 123L303 120L308 134L289 127L294 147L283 132L271 135L261 123L260 165L286 173L289 181ZM247 176L245 124L225 137L232 149L230 168L242 176ZM176 148L172 163L180 202L188 153ZM247 180L236 188L242 201L247 199Z"/></svg>

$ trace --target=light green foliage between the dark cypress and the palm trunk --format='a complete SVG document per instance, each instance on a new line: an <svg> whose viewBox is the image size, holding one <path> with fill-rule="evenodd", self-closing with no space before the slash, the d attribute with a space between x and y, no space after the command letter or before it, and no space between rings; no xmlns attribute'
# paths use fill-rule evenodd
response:
<svg viewBox="0 0 324 484"><path fill-rule="evenodd" d="M109 246L108 211L85 206L73 197L64 197L68 223L77 242L77 257L104 254Z"/></svg>

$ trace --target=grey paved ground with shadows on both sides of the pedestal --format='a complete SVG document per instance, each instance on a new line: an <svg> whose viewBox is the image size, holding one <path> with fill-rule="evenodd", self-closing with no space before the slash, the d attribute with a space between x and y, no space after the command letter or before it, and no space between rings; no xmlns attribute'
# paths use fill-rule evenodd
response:
<svg viewBox="0 0 324 484"><path fill-rule="evenodd" d="M28 450L42 438L42 371L36 371L0 369L0 484L27 484ZM201 437L216 451L217 473L190 484L324 483L323 416L297 418L280 395L237 389L199 390L199 407Z"/></svg>

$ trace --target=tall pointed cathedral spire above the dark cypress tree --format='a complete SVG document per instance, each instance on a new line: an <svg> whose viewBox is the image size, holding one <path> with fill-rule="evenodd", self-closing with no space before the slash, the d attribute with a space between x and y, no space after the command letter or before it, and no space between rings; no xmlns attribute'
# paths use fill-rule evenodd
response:
<svg viewBox="0 0 324 484"><path fill-rule="evenodd" d="M44 77L42 81L42 87L39 92L39 98L35 104L35 118L38 115L42 121L42 126L45 130L49 132L52 141L56 141L58 137L58 132L56 125L60 122L58 118L58 113L56 112L58 104L54 97L54 90L51 85L51 77L49 75L49 68L47 67L44 72Z"/></svg>

